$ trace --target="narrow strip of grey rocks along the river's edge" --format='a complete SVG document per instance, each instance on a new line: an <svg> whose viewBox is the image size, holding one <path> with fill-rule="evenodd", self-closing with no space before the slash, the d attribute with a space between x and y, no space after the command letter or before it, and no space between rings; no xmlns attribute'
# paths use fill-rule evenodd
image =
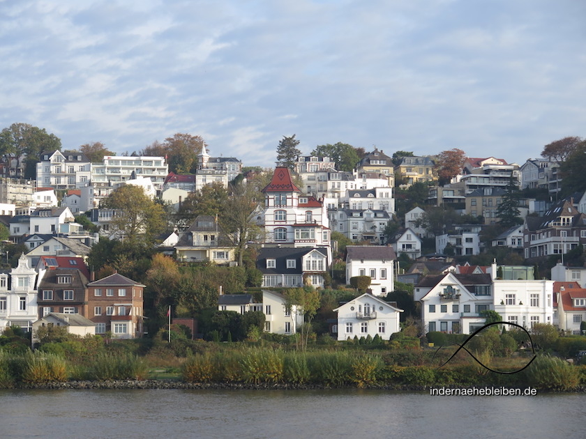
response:
<svg viewBox="0 0 586 439"><path fill-rule="evenodd" d="M421 385L368 385L368 390L389 390L395 392L428 392L433 386ZM450 385L438 386L451 389L468 388L465 386ZM475 386L482 388L485 386ZM493 386L486 386L493 387ZM356 389L354 385L326 386L317 384L251 384L251 383L186 383L177 380L105 380L105 381L66 381L65 383L27 384L19 383L13 387L20 390L331 390ZM539 393L546 391L539 390ZM580 387L574 392L586 393L586 387ZM561 393L561 392L560 392Z"/></svg>

